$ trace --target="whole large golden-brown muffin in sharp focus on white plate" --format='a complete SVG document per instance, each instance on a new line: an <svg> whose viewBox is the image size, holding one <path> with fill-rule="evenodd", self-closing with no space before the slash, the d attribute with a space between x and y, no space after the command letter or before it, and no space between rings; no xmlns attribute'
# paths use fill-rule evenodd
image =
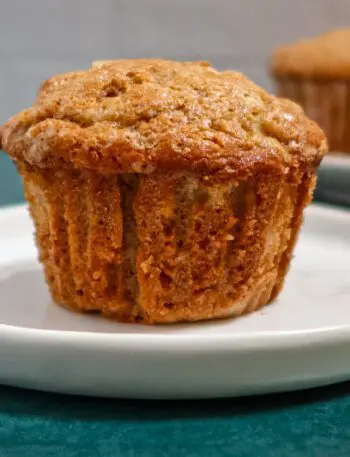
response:
<svg viewBox="0 0 350 457"><path fill-rule="evenodd" d="M156 59L55 76L2 136L54 301L147 324L275 298L326 150L243 75Z"/></svg>

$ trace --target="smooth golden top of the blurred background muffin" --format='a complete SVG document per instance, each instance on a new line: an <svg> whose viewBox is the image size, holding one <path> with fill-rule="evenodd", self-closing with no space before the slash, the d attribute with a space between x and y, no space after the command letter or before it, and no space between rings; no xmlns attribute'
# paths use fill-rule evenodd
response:
<svg viewBox="0 0 350 457"><path fill-rule="evenodd" d="M272 72L278 77L349 80L349 49L350 29L334 30L276 49Z"/></svg>

